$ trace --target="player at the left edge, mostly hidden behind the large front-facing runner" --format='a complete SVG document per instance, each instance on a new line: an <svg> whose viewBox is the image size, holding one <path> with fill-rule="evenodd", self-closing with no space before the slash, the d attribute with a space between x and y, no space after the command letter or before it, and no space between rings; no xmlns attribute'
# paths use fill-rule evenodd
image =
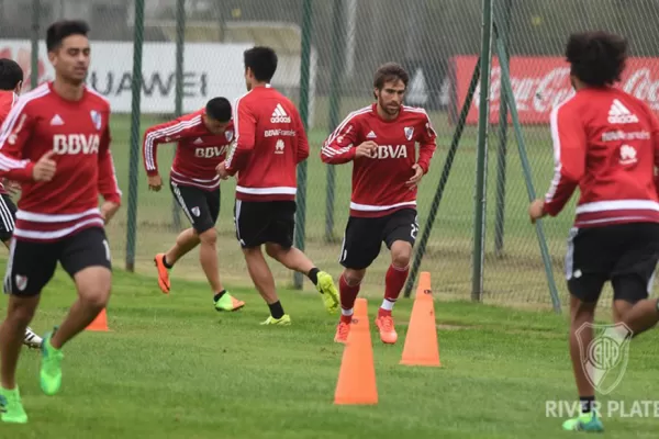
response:
<svg viewBox="0 0 659 439"><path fill-rule="evenodd" d="M13 59L0 59L0 125L7 119L10 110L19 99L21 89L23 88L23 69ZM13 184L12 182L9 182ZM9 249L11 235L14 229L16 216L16 206L9 196L9 192L4 189L4 184L0 182L0 240ZM23 345L29 348L38 348L42 344L42 338L37 336L32 328L25 328L25 337Z"/></svg>

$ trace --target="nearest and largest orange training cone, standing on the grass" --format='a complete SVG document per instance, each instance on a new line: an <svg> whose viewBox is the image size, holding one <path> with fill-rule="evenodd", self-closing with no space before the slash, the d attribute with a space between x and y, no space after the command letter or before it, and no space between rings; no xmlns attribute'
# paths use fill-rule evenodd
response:
<svg viewBox="0 0 659 439"><path fill-rule="evenodd" d="M355 303L355 315L344 347L334 404L378 404L366 299L357 299Z"/></svg>

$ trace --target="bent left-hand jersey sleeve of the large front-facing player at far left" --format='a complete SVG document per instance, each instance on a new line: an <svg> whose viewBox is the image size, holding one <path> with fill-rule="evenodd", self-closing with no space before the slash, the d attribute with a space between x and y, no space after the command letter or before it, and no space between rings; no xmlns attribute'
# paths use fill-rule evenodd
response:
<svg viewBox="0 0 659 439"><path fill-rule="evenodd" d="M0 127L0 177L32 181L34 162L22 159L23 148L32 135L35 119L26 105L14 105Z"/></svg>

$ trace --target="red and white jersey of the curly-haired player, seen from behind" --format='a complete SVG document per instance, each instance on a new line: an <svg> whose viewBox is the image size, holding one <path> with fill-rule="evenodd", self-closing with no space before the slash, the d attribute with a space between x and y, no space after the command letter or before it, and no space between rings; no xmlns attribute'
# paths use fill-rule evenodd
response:
<svg viewBox="0 0 659 439"><path fill-rule="evenodd" d="M579 187L576 227L659 222L659 123L644 102L615 88L585 88L554 109L550 124L549 215Z"/></svg>

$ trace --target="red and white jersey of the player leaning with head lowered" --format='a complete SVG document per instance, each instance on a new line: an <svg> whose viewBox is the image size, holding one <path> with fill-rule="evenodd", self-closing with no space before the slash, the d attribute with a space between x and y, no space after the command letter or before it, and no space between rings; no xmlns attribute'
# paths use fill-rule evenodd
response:
<svg viewBox="0 0 659 439"><path fill-rule="evenodd" d="M215 168L226 157L234 139L233 123L223 134L208 131L202 115L205 109L152 126L144 134L142 156L148 176L158 175L158 145L177 140L176 155L169 178L178 185L212 191L220 187Z"/></svg>

